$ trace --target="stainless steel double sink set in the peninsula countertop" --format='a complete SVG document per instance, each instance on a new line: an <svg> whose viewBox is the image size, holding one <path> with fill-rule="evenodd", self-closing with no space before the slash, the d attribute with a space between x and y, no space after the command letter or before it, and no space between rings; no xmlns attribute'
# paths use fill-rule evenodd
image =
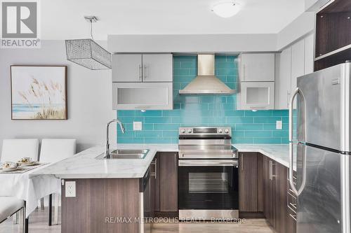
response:
<svg viewBox="0 0 351 233"><path fill-rule="evenodd" d="M102 153L98 157L95 157L95 159L97 160L119 160L119 159L142 160L146 157L147 153L149 153L149 150L147 149L142 149L142 150L119 149L119 150L111 151L110 157L107 157L105 153Z"/></svg>

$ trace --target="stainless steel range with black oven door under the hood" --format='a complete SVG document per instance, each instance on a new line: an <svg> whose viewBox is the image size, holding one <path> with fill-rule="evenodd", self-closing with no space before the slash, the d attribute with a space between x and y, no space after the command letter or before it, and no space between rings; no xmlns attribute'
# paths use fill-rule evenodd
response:
<svg viewBox="0 0 351 233"><path fill-rule="evenodd" d="M239 217L239 161L230 127L181 127L178 164L180 219Z"/></svg>

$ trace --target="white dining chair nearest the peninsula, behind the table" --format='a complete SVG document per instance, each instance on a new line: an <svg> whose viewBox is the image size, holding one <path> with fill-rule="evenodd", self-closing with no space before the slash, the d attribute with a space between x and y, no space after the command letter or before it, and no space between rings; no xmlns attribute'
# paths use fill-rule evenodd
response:
<svg viewBox="0 0 351 233"><path fill-rule="evenodd" d="M41 149L40 149L40 162L59 162L61 160L67 159L67 157L72 157L76 153L77 140L76 139L42 139ZM55 214L53 224L58 224L58 193L55 196ZM52 200L53 194L49 195L49 216L48 225L51 226L51 212L52 212ZM41 207L44 208L44 198L41 199Z"/></svg>

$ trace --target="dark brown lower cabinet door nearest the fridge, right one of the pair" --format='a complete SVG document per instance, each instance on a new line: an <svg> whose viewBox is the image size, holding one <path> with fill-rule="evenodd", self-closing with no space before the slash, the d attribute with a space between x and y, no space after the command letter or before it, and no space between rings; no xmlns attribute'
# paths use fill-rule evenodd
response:
<svg viewBox="0 0 351 233"><path fill-rule="evenodd" d="M274 181L274 229L277 232L287 231L287 217L288 217L288 183L286 176L288 169L274 162L273 166L273 181Z"/></svg>

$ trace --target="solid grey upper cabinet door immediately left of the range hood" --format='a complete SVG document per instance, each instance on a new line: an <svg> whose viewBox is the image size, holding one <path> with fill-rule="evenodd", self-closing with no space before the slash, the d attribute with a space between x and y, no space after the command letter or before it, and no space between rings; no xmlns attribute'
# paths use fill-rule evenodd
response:
<svg viewBox="0 0 351 233"><path fill-rule="evenodd" d="M171 54L143 54L143 82L172 82Z"/></svg>

